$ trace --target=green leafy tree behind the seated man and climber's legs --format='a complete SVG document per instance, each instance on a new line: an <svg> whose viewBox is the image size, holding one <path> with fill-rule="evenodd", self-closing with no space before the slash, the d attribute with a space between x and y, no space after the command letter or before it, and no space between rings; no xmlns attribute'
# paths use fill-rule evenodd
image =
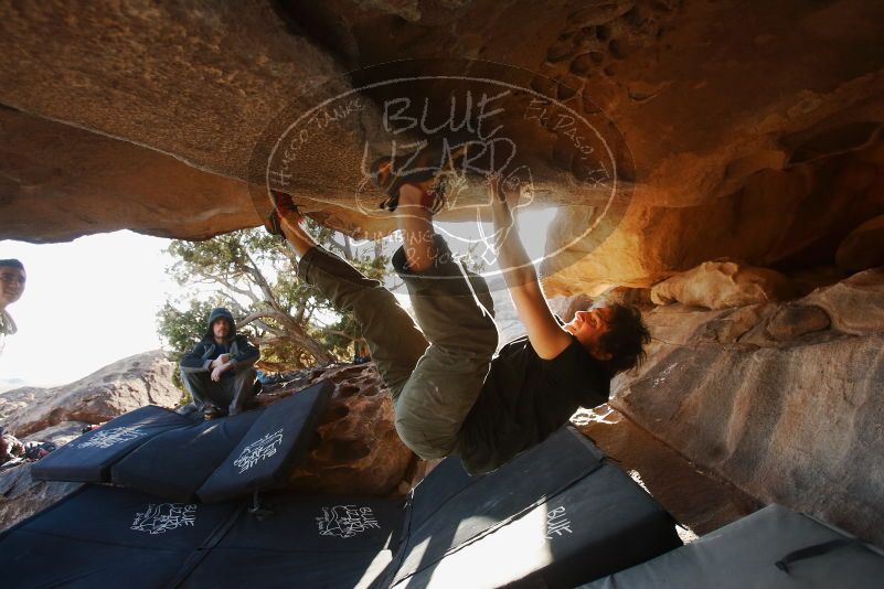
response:
<svg viewBox="0 0 884 589"><path fill-rule="evenodd" d="M366 276L382 279L388 258L380 243L358 254L351 240L311 224L320 243ZM202 338L214 307L227 307L237 329L262 350L259 366L279 371L349 360L363 349L355 322L341 315L316 289L297 277L288 244L263 229L244 229L205 242L173 240L170 274L193 290L167 301L158 331L178 361ZM183 310L182 310L183 307Z"/></svg>

